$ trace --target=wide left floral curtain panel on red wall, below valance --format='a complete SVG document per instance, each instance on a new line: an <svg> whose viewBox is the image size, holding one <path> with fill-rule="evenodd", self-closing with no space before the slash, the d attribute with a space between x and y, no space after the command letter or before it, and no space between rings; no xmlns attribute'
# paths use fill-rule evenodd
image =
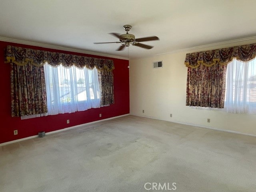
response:
<svg viewBox="0 0 256 192"><path fill-rule="evenodd" d="M47 113L44 68L11 64L12 117Z"/></svg>

